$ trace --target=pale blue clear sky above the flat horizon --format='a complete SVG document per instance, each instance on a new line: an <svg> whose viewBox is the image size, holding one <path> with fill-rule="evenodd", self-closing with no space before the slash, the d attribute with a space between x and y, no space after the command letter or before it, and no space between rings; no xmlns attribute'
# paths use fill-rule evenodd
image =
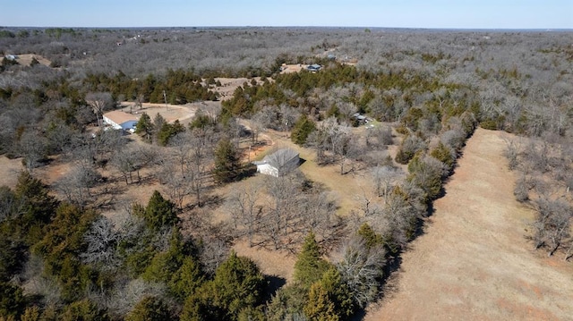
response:
<svg viewBox="0 0 573 321"><path fill-rule="evenodd" d="M573 29L573 0L0 0L7 27Z"/></svg>

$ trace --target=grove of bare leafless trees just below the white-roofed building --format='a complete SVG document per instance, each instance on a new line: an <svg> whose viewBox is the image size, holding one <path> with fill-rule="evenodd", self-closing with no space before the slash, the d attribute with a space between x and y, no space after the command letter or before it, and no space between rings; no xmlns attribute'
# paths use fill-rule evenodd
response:
<svg viewBox="0 0 573 321"><path fill-rule="evenodd" d="M250 246L295 251L304 235L313 231L330 243L340 237L343 222L335 214L336 202L328 191L296 172L252 181L227 196L236 237Z"/></svg>

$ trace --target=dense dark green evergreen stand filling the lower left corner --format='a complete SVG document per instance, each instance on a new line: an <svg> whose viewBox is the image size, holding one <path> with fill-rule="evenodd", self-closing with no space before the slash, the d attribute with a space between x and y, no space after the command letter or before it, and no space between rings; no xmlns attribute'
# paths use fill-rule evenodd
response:
<svg viewBox="0 0 573 321"><path fill-rule="evenodd" d="M201 240L184 237L158 191L114 220L57 201L27 172L0 197L0 317L236 320L263 302L259 268L231 253L208 272Z"/></svg>

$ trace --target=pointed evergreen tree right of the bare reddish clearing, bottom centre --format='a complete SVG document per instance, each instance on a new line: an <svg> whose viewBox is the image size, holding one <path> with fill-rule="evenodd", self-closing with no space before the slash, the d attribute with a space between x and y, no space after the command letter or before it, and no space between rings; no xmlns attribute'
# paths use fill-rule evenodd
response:
<svg viewBox="0 0 573 321"><path fill-rule="evenodd" d="M310 232L295 263L295 280L305 288L319 281L329 268L329 263L321 257L321 247L314 239L314 233Z"/></svg>

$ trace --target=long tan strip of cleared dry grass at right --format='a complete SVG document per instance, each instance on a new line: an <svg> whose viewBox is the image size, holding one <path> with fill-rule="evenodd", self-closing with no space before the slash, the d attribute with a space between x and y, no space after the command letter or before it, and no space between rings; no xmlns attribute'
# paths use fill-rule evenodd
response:
<svg viewBox="0 0 573 321"><path fill-rule="evenodd" d="M573 266L527 241L533 213L513 196L500 131L468 140L446 196L365 320L566 320Z"/></svg>

